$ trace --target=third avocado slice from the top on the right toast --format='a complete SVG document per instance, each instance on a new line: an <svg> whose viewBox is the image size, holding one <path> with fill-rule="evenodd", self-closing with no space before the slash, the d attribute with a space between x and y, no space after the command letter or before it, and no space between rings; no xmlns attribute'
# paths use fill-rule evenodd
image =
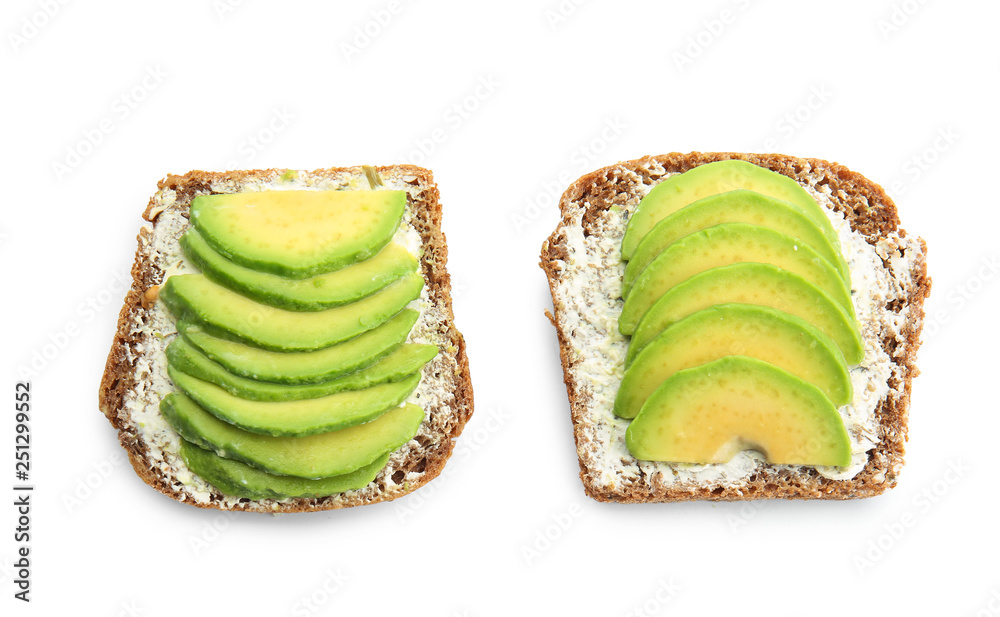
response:
<svg viewBox="0 0 1000 617"><path fill-rule="evenodd" d="M688 234L646 266L625 299L619 332L633 334L646 311L672 287L705 270L743 262L771 264L798 274L854 314L850 290L816 251L766 227L725 223Z"/></svg>

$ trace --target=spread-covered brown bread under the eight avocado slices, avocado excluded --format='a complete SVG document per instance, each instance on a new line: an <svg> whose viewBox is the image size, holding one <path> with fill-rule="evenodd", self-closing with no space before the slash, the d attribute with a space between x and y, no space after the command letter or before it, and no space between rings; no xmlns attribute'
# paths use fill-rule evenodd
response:
<svg viewBox="0 0 1000 617"><path fill-rule="evenodd" d="M202 508L255 512L308 512L389 501L441 473L454 440L472 415L472 383L465 341L455 329L451 281L445 269L448 249L441 231L441 204L429 171L411 165L379 167L386 188L408 194L395 239L419 255L426 284L411 308L420 311L408 342L437 345L437 357L407 402L425 412L417 435L389 458L388 465L363 489L323 498L254 501L223 495L193 475L178 456L180 438L160 416L159 403L173 390L166 372L165 348L176 326L156 301L164 279L190 268L178 239L188 227L191 200L198 195L239 191L367 188L361 167L290 171L267 169L167 176L150 199L139 231L132 287L118 320L104 378L100 409L118 429L118 439L139 476L173 499ZM193 271L193 270L192 270Z"/></svg>

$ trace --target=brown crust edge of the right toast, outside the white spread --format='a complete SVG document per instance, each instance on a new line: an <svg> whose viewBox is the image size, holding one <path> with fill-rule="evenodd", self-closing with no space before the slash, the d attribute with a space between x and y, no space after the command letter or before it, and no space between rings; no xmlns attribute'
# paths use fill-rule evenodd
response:
<svg viewBox="0 0 1000 617"><path fill-rule="evenodd" d="M781 154L746 154L736 152L673 152L659 156L618 163L587 174L563 193L559 202L561 221L556 230L542 246L540 266L548 278L553 299L553 313L547 313L555 326L563 367L564 382L569 397L574 427L577 453L580 462L580 478L586 493L598 501L623 503L669 502L669 501L743 501L751 499L854 499L878 495L896 485L897 476L903 465L907 438L910 391L913 378L919 373L916 354L920 346L920 331L923 326L923 303L930 293L931 279L927 276L925 254L927 247L917 238L920 254L909 272L910 284L907 288L906 304L909 306L907 320L900 329L900 339L889 336L882 338L882 346L900 368L901 379L890 378L889 395L876 409L879 427L878 445L869 451L868 462L858 475L850 480L831 480L821 476L811 467L769 469L757 471L744 482L728 486L699 486L694 484L666 485L655 477L643 474L640 482L617 483L612 489L598 485L595 470L589 465L586 455L590 437L585 431L586 393L576 382L573 374L574 361L570 341L566 331L567 308L559 301L556 286L560 280L562 263L568 258L563 233L573 225L571 206L584 204L582 226L584 234L600 234L599 214L613 205L621 205L634 198L636 188L641 184L652 184L668 173L679 173L693 167L726 159L741 159L788 176L796 181L816 180L817 185L828 185L834 208L844 215L851 228L875 245L888 234L897 232L906 237L899 228L899 217L892 199L879 185L843 165L821 159L797 158ZM888 263L885 263L886 267ZM899 306L887 307L898 311ZM899 349L902 347L902 349Z"/></svg>

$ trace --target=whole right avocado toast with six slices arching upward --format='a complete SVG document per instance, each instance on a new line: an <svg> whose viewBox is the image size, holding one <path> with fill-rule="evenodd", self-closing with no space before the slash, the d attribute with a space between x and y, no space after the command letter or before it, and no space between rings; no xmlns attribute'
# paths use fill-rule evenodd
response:
<svg viewBox="0 0 1000 617"><path fill-rule="evenodd" d="M590 497L896 484L931 281L881 187L819 159L672 153L559 206L540 265Z"/></svg>

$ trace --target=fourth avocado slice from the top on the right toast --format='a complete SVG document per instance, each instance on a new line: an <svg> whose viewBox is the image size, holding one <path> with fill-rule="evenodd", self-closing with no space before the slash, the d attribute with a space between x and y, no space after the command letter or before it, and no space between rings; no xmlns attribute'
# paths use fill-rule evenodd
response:
<svg viewBox="0 0 1000 617"><path fill-rule="evenodd" d="M864 343L853 312L847 313L821 289L787 270L738 263L696 274L663 294L632 335L625 366L670 324L714 304L729 303L768 306L799 317L830 337L848 365L864 359Z"/></svg>

